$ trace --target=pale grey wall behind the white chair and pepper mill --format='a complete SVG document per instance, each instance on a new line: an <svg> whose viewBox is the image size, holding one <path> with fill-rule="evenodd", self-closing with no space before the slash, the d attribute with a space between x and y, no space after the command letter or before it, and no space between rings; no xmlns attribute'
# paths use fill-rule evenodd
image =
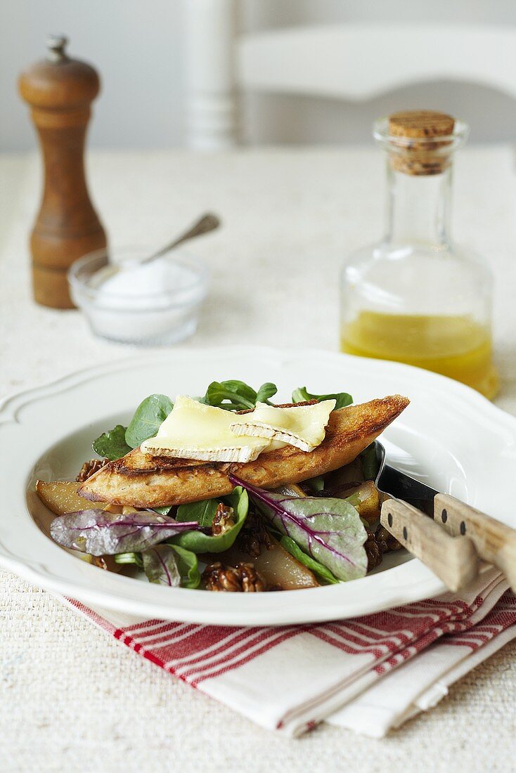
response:
<svg viewBox="0 0 516 773"><path fill-rule="evenodd" d="M516 2L241 0L241 26L249 30L347 20L385 22L386 34L396 21L516 26ZM101 72L91 146L183 144L182 0L0 0L0 149L34 147L16 78L43 56L47 32L65 32L70 54ZM253 142L364 142L374 117L405 107L460 115L472 126L472 141L514 141L516 135L516 100L468 83L407 87L363 104L260 95L243 107Z"/></svg>

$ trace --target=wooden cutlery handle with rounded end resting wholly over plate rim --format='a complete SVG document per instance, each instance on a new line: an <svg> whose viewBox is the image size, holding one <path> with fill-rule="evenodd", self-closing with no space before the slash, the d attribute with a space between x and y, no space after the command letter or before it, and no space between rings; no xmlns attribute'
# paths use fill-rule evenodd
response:
<svg viewBox="0 0 516 773"><path fill-rule="evenodd" d="M472 540L450 536L439 523L402 499L383 503L380 522L450 591L459 591L477 577L478 556Z"/></svg>

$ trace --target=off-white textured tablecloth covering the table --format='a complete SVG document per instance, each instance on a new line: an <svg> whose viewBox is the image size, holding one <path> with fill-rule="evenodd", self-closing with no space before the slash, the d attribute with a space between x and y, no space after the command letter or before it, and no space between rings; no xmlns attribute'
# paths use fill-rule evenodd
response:
<svg viewBox="0 0 516 773"><path fill-rule="evenodd" d="M193 347L337 349L337 272L381 235L383 174L372 148L89 157L112 243L157 247L205 209L223 217L224 229L196 246L214 281L200 329L182 345ZM494 270L497 403L516 414L514 179L511 148L466 148L453 221L457 240ZM32 302L27 236L39 182L36 155L0 156L1 395L134 351L94 339L78 312ZM2 771L514 769L516 643L384 741L327 726L292 741L121 648L46 592L5 572L0 581Z"/></svg>

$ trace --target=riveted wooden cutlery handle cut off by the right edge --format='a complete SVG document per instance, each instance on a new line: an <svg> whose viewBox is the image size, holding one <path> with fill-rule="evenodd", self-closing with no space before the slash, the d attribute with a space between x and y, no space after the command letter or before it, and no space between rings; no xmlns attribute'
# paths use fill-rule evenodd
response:
<svg viewBox="0 0 516 773"><path fill-rule="evenodd" d="M434 499L434 519L449 534L467 534L484 561L494 564L516 592L516 531L449 494Z"/></svg>

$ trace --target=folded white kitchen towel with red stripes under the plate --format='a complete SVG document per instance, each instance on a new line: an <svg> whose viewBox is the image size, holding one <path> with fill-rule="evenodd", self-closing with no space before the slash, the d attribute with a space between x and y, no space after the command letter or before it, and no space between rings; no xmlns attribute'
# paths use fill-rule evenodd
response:
<svg viewBox="0 0 516 773"><path fill-rule="evenodd" d="M327 720L381 737L516 636L516 597L495 569L460 595L279 628L144 620L65 601L156 666L292 736Z"/></svg>

